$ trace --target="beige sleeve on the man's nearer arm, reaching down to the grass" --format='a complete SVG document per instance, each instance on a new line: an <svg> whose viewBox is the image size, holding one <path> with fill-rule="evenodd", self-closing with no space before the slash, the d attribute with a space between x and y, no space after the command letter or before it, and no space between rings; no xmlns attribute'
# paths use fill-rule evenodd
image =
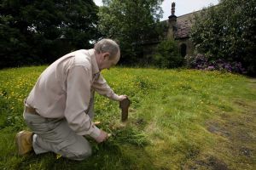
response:
<svg viewBox="0 0 256 170"><path fill-rule="evenodd" d="M69 127L79 135L90 135L96 139L101 130L85 114L90 103L91 72L84 66L73 66L67 76L67 100L65 117Z"/></svg>

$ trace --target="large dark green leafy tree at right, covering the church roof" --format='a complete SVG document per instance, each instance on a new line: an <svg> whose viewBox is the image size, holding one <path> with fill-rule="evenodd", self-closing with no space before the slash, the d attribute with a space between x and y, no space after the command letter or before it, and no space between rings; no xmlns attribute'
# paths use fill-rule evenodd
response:
<svg viewBox="0 0 256 170"><path fill-rule="evenodd" d="M211 59L241 62L256 73L256 1L222 0L195 16L191 40Z"/></svg>

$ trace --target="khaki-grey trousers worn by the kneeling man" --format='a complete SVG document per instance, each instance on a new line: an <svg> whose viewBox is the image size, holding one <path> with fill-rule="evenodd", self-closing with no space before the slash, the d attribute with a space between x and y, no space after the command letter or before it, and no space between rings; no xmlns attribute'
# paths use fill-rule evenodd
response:
<svg viewBox="0 0 256 170"><path fill-rule="evenodd" d="M90 98L88 114L92 119L94 117L93 102L94 93ZM63 157L72 160L84 160L91 155L89 142L68 126L65 118L45 118L37 114L23 113L25 122L34 133L32 137L32 146L36 154L45 152L55 152Z"/></svg>

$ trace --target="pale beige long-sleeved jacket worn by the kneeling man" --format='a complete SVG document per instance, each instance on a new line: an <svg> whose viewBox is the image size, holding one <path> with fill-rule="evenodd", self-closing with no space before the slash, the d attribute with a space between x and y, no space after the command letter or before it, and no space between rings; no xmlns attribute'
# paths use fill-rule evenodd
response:
<svg viewBox="0 0 256 170"><path fill-rule="evenodd" d="M26 105L35 108L40 116L65 117L77 134L88 134L96 139L101 131L84 113L89 107L92 90L118 100L118 95L100 74L94 49L81 49L49 65L32 88Z"/></svg>

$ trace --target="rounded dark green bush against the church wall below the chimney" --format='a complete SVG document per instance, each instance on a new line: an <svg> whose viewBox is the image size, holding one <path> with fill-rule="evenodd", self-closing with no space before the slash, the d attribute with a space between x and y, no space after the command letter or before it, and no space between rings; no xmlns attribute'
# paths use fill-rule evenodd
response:
<svg viewBox="0 0 256 170"><path fill-rule="evenodd" d="M161 68L177 68L183 65L183 58L179 53L177 42L165 40L160 42L156 48L157 54L154 55L154 65Z"/></svg>

